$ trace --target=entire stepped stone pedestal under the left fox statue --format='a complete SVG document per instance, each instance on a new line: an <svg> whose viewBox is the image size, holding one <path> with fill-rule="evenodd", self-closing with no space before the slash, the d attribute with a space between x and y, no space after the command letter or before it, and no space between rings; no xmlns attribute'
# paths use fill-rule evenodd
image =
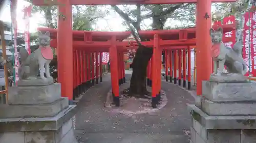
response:
<svg viewBox="0 0 256 143"><path fill-rule="evenodd" d="M9 88L9 105L0 106L0 142L77 143L75 107L61 98L60 84Z"/></svg>

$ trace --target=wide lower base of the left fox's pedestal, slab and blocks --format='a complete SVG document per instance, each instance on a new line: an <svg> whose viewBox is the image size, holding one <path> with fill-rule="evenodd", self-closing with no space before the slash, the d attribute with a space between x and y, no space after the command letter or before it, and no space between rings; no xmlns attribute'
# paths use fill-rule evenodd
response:
<svg viewBox="0 0 256 143"><path fill-rule="evenodd" d="M72 117L75 106L53 118L0 120L0 142L3 143L77 143Z"/></svg>

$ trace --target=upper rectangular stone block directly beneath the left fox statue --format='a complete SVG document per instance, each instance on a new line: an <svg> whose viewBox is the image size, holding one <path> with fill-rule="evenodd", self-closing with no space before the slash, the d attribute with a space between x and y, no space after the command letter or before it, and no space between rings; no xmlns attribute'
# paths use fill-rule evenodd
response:
<svg viewBox="0 0 256 143"><path fill-rule="evenodd" d="M48 104L61 98L60 83L9 88L9 104Z"/></svg>

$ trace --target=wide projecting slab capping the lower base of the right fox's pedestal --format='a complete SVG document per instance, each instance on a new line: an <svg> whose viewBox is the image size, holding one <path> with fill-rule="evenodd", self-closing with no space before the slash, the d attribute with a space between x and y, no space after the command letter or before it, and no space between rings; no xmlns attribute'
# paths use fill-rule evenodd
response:
<svg viewBox="0 0 256 143"><path fill-rule="evenodd" d="M208 129L256 129L256 116L209 116L196 105L188 104L191 119Z"/></svg>

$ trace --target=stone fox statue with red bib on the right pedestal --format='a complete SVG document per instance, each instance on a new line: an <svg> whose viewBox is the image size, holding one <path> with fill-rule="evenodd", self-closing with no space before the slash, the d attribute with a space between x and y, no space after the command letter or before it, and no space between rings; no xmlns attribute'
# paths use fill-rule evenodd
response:
<svg viewBox="0 0 256 143"><path fill-rule="evenodd" d="M225 65L228 73L244 75L247 72L247 66L242 58L241 40L237 40L233 48L228 48L222 42L223 31L221 27L217 31L210 28L210 36L212 42L211 53L214 60L214 74L222 74ZM219 65L219 72L217 64Z"/></svg>

